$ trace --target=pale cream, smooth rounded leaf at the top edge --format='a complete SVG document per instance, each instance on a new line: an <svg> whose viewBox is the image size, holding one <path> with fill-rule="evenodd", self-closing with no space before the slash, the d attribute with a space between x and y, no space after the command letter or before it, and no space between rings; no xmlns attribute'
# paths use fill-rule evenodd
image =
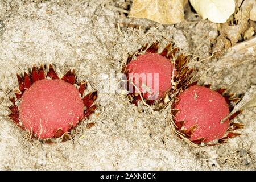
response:
<svg viewBox="0 0 256 182"><path fill-rule="evenodd" d="M196 12L214 23L225 23L235 11L234 0L190 0Z"/></svg>

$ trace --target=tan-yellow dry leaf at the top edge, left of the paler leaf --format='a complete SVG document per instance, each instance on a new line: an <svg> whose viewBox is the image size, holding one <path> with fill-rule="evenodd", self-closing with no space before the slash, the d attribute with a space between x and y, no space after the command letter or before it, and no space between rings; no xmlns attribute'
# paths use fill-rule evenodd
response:
<svg viewBox="0 0 256 182"><path fill-rule="evenodd" d="M175 24L184 20L186 0L134 0L129 13L132 18L147 18L161 24Z"/></svg>

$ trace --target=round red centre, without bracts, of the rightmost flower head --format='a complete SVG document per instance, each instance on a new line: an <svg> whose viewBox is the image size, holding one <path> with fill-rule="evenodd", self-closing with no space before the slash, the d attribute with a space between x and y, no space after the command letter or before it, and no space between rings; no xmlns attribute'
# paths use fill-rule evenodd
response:
<svg viewBox="0 0 256 182"><path fill-rule="evenodd" d="M229 114L225 98L204 86L191 86L179 95L175 122L185 121L184 129L197 125L190 140L205 138L204 142L223 137L229 127L229 119L220 123Z"/></svg>

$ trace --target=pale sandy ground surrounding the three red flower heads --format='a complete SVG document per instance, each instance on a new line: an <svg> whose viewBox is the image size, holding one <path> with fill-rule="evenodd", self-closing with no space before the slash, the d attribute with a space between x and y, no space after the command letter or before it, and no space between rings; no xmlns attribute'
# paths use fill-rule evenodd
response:
<svg viewBox="0 0 256 182"><path fill-rule="evenodd" d="M102 74L119 73L129 53L156 40L161 48L172 41L182 52L199 56L191 66L200 69L201 84L225 86L238 95L256 84L255 61L231 66L217 59L199 61L212 51L216 24L197 18L162 26L129 19L106 6L126 2L0 0L0 169L255 170L256 108L236 118L245 125L241 137L195 148L171 134L166 121L170 107L152 114L146 106L131 105L123 94L102 91ZM121 26L118 31L118 23L141 28ZM60 75L75 69L79 80L90 83L89 91L99 91L100 106L77 127L73 144L30 143L6 117L9 97L18 88L15 74L42 63L56 65ZM96 125L86 129L88 122Z"/></svg>

